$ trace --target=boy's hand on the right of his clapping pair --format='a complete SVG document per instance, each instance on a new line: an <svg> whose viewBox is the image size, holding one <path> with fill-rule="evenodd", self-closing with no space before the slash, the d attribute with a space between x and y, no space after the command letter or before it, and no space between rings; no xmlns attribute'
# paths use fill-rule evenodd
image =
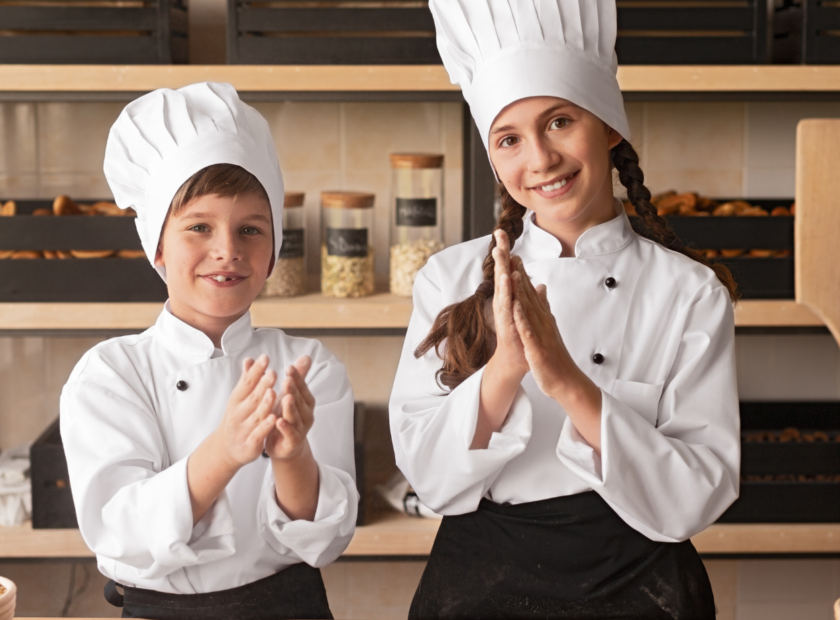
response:
<svg viewBox="0 0 840 620"><path fill-rule="evenodd" d="M265 441L265 451L272 459L293 459L308 445L306 435L315 422L315 397L306 385L312 360L303 355L286 368L286 377L275 408L276 422Z"/></svg>

